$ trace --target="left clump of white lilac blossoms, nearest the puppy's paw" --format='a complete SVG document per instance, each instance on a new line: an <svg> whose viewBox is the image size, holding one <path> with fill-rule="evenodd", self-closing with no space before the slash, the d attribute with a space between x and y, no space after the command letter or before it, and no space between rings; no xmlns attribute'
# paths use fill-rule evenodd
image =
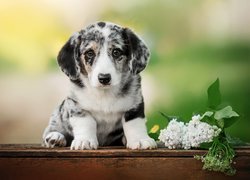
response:
<svg viewBox="0 0 250 180"><path fill-rule="evenodd" d="M185 124L173 119L169 122L166 129L161 130L159 140L169 149L182 147L182 137L184 135Z"/></svg>

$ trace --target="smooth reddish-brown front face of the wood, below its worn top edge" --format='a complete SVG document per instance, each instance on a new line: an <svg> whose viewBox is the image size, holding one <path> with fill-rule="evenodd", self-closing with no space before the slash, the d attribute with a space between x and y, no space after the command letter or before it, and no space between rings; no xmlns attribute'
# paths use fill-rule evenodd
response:
<svg viewBox="0 0 250 180"><path fill-rule="evenodd" d="M249 162L250 159L244 159ZM237 159L237 175L202 171L193 158L0 158L1 179L247 179ZM249 163L248 163L249 167Z"/></svg>

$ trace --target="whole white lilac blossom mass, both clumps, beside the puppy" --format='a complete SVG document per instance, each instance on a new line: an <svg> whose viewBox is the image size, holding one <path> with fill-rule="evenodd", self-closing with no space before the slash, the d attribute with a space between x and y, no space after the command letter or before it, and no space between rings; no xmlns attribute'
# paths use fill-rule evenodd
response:
<svg viewBox="0 0 250 180"><path fill-rule="evenodd" d="M186 124L173 119L166 129L161 130L159 140L169 149L190 149L199 147L201 143L211 142L220 134L221 129L200 120L200 115L193 116Z"/></svg>

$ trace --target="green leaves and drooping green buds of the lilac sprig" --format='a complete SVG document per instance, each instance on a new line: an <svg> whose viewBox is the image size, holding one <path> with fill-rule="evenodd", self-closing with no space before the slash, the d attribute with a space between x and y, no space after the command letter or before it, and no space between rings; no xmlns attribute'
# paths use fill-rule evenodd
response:
<svg viewBox="0 0 250 180"><path fill-rule="evenodd" d="M239 119L239 114L236 113L231 106L223 106L219 79L216 79L216 81L208 87L207 95L207 110L200 117L200 120L211 126L215 125L219 127L221 131L212 139L212 142L203 141L204 143L200 144L199 147L208 149L208 152L203 156L196 155L195 158L204 163L203 169L205 170L234 175L236 170L232 166L235 156L233 146L242 144L243 142L238 138L229 136L225 129L232 126ZM172 122L173 118L180 120L177 117L168 116L162 112L161 115L165 117L168 122Z"/></svg>

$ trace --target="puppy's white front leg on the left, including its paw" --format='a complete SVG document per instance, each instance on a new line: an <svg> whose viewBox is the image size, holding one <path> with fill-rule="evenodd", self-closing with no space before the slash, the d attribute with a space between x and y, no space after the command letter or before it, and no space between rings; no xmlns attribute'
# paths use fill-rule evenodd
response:
<svg viewBox="0 0 250 180"><path fill-rule="evenodd" d="M74 135L70 149L97 149L97 125L94 118L90 115L85 115L84 117L70 117L69 121L73 128Z"/></svg>

